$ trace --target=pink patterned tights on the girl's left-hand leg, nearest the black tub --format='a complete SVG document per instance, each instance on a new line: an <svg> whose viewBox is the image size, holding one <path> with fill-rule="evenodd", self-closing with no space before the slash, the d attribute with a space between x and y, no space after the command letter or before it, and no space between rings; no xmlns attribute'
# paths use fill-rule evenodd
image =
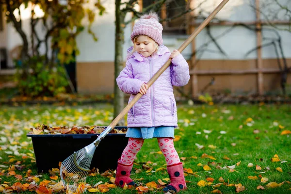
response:
<svg viewBox="0 0 291 194"><path fill-rule="evenodd" d="M144 144L144 141L142 138L129 138L129 143L125 147L125 149L122 152L120 163L123 164L131 164L138 151L141 149L141 147Z"/></svg>

